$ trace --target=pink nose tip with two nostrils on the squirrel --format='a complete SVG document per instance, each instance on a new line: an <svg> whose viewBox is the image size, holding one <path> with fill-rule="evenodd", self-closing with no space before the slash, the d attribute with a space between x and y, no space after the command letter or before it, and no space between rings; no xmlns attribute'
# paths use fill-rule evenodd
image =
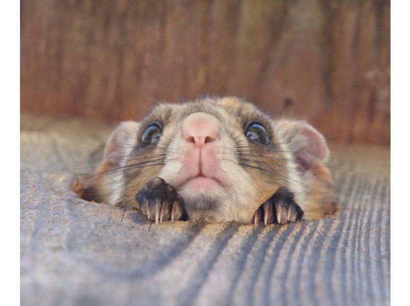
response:
<svg viewBox="0 0 410 306"><path fill-rule="evenodd" d="M211 114L194 113L189 115L182 123L183 140L193 143L197 147L219 139L220 121Z"/></svg>

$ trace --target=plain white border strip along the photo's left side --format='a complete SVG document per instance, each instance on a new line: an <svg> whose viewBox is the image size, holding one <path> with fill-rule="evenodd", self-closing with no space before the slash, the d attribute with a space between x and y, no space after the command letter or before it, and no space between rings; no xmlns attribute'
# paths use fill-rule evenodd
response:
<svg viewBox="0 0 410 306"><path fill-rule="evenodd" d="M2 4L0 13L1 58L1 159L2 208L0 222L2 304L20 303L20 5L18 1Z"/></svg>

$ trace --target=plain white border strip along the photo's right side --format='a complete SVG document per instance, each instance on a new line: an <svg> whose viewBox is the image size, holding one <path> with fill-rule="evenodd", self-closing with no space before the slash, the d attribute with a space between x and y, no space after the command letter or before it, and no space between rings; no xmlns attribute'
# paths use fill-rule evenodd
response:
<svg viewBox="0 0 410 306"><path fill-rule="evenodd" d="M410 5L393 1L391 8L391 302L402 305L408 302L410 276Z"/></svg>

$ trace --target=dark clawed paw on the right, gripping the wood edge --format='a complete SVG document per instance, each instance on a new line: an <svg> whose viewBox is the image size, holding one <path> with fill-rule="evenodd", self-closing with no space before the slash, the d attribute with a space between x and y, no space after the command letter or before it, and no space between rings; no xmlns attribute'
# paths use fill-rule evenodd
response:
<svg viewBox="0 0 410 306"><path fill-rule="evenodd" d="M265 225L274 222L286 224L300 220L302 216L303 210L296 204L293 193L282 186L258 208L254 223L256 225L263 220Z"/></svg>

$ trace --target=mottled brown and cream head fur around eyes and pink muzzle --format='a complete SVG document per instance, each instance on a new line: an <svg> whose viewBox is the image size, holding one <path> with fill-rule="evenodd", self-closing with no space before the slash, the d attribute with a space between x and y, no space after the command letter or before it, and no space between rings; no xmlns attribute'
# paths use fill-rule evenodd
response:
<svg viewBox="0 0 410 306"><path fill-rule="evenodd" d="M181 122L197 112L220 121L218 160L229 183L223 192L207 194L200 201L179 186L175 176L182 167ZM163 134L154 146L142 147L141 136L152 122L161 124ZM244 128L250 122L260 122L267 129L268 145L245 137ZM140 123L121 123L107 142L104 157L91 178L72 184L81 198L139 208L137 192L160 177L182 196L190 219L252 222L255 211L281 186L294 193L304 218L321 218L337 210L323 137L303 121L271 119L253 104L234 97L161 103Z"/></svg>

